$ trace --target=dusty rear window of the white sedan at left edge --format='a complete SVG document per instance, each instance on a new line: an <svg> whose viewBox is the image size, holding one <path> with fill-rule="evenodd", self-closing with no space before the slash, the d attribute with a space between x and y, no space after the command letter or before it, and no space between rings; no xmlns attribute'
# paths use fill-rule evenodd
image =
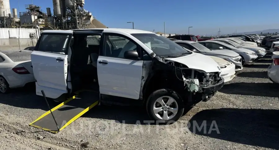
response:
<svg viewBox="0 0 279 150"><path fill-rule="evenodd" d="M13 62L31 60L32 51L30 50L4 50L0 52L7 55Z"/></svg>

